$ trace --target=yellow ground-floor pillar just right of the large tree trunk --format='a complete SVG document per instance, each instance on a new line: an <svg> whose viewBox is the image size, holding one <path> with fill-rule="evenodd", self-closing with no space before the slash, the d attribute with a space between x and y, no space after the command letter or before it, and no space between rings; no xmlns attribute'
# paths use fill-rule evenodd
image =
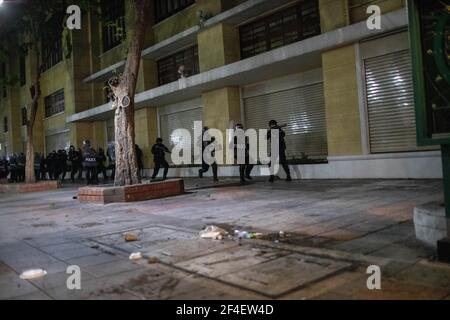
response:
<svg viewBox="0 0 450 320"><path fill-rule="evenodd" d="M134 115L136 144L144 153L144 168L153 167L151 148L158 138L158 118L156 108L136 110Z"/></svg>

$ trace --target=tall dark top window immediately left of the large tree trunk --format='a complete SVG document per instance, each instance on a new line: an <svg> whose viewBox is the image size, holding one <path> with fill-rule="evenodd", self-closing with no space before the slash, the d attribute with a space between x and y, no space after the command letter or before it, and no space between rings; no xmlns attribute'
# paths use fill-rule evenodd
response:
<svg viewBox="0 0 450 320"><path fill-rule="evenodd" d="M103 52L118 46L126 37L124 0L102 0Z"/></svg>

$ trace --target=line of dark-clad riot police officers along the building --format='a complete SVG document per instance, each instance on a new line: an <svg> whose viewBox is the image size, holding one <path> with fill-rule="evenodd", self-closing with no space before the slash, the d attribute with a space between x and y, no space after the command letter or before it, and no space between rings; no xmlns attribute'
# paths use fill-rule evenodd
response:
<svg viewBox="0 0 450 320"><path fill-rule="evenodd" d="M285 142L285 132L282 126L277 124L277 121L271 120L269 122L270 129L279 130L279 163L283 167L287 175L287 181L291 181L291 173L289 166L287 164L286 158L286 142ZM234 128L235 130L244 130L241 124L237 124ZM203 134L205 134L209 129L207 127L203 128ZM267 139L271 141L270 131L267 135ZM234 138L234 157L235 160L238 159L239 149L245 149L245 163L239 164L239 175L241 183L245 183L246 180L252 180L251 172L253 170L254 164L250 159L249 155L249 141L245 138L244 146L239 146L237 137ZM209 140L204 141L203 135L200 141L202 146L202 154L205 149L212 143L215 143L215 138L211 137ZM165 159L166 153L171 153L169 148L163 144L163 140L158 138L156 144L153 145L151 152L153 154L153 161L155 163L155 169L152 175L152 181L158 176L159 170L164 168L163 180L167 178L167 173L169 171L169 163ZM136 145L136 156L138 162L139 175L142 176L142 170L144 168L143 164L143 153L142 150ZM215 154L213 152L212 157ZM108 161L109 165L106 166ZM83 142L83 147L75 149L74 146L70 146L69 151L58 150L51 152L47 157L42 154L36 154L35 156L35 172L36 178L38 180L61 180L64 181L67 172L70 172L70 180L75 182L75 177L78 175L78 180L82 180L83 172L85 172L85 178L88 185L98 184L99 174L103 175L103 180L108 179L107 169L111 169L111 179L114 180L115 176L115 145L113 143L109 144L107 152L102 148L96 151L89 140ZM25 180L25 163L26 157L23 153L19 155L11 155L10 157L0 157L0 179L7 178L9 175L9 181L23 182ZM270 164L269 164L270 166ZM202 157L202 167L199 170L199 177L202 178L203 174L212 168L213 179L215 182L218 179L218 166L217 163L213 164L206 163L205 159ZM270 182L274 182L274 174L270 176Z"/></svg>

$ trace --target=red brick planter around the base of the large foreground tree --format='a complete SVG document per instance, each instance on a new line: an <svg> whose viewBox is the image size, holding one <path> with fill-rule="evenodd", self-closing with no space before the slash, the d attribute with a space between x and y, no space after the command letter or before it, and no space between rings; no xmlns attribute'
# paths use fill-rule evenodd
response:
<svg viewBox="0 0 450 320"><path fill-rule="evenodd" d="M83 187L78 190L78 200L107 204L159 199L183 193L184 181L173 179L126 187Z"/></svg>

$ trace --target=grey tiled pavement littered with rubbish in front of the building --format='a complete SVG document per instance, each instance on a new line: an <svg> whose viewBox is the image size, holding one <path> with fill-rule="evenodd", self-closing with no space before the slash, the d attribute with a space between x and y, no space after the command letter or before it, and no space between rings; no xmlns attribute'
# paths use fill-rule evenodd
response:
<svg viewBox="0 0 450 320"><path fill-rule="evenodd" d="M104 206L80 204L71 185L0 194L0 299L450 298L450 266L415 240L412 223L415 206L442 197L441 181L186 186L179 197ZM206 225L265 237L202 240ZM125 243L126 231L140 240ZM144 259L129 261L137 251ZM379 291L366 285L374 264ZM69 265L81 268L82 290L67 289ZM48 274L20 280L31 268Z"/></svg>

